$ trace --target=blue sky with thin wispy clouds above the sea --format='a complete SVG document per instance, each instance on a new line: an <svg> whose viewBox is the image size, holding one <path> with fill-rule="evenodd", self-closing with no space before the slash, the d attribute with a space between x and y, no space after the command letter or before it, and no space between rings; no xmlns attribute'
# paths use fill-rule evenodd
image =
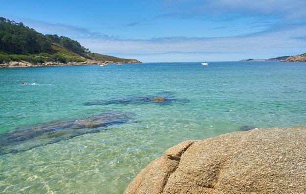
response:
<svg viewBox="0 0 306 194"><path fill-rule="evenodd" d="M0 0L0 17L142 62L306 52L306 0Z"/></svg>

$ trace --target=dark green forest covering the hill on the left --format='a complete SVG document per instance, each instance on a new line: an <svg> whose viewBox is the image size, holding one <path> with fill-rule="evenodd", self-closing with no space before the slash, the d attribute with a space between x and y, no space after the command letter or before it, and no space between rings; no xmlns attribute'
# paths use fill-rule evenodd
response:
<svg viewBox="0 0 306 194"><path fill-rule="evenodd" d="M34 63L46 60L64 63L80 61L80 58L73 56L61 56L59 51L63 49L60 46L84 58L91 58L89 49L76 40L58 35L43 35L22 22L0 17L0 63L19 59ZM38 54L41 55L36 56Z"/></svg>

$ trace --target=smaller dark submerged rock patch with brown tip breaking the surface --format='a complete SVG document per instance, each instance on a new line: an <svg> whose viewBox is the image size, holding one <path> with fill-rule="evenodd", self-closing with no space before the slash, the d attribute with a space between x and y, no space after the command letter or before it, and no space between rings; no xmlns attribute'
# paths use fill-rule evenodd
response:
<svg viewBox="0 0 306 194"><path fill-rule="evenodd" d="M173 102L178 102L181 104L185 104L189 102L188 99L177 99L174 97L173 93L161 93L156 96L139 96L139 95L131 95L126 97L118 97L118 98L109 98L109 99L101 99L87 102L86 105L108 105L108 104L158 104L158 105L169 105Z"/></svg>

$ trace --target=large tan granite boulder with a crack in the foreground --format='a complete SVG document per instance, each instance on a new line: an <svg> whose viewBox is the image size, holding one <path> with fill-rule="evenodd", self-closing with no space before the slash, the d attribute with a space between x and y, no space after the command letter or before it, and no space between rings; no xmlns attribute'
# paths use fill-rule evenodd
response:
<svg viewBox="0 0 306 194"><path fill-rule="evenodd" d="M125 194L305 194L306 125L234 132L168 149Z"/></svg>

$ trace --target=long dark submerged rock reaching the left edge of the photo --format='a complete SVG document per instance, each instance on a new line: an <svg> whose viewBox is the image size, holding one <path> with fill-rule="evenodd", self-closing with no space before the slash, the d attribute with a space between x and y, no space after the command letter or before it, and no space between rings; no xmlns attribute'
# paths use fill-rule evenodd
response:
<svg viewBox="0 0 306 194"><path fill-rule="evenodd" d="M17 153L67 140L130 120L123 112L109 112L79 120L52 121L16 128L0 134L0 155Z"/></svg>

